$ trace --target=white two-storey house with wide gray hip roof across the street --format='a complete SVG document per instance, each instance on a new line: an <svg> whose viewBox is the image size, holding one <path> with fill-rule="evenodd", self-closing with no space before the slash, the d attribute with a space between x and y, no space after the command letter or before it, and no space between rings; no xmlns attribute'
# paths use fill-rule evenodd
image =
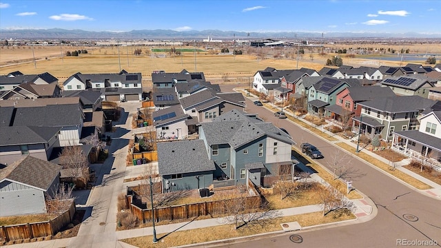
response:
<svg viewBox="0 0 441 248"><path fill-rule="evenodd" d="M391 141L393 132L418 130L418 117L431 111L436 101L421 96L389 96L358 103L361 115L352 118L352 130ZM361 123L361 131L359 130Z"/></svg>

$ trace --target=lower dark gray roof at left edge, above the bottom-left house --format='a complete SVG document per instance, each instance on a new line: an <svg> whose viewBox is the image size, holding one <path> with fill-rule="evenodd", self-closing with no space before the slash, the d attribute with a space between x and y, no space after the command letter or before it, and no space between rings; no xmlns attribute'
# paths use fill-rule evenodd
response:
<svg viewBox="0 0 441 248"><path fill-rule="evenodd" d="M48 143L61 127L1 127L0 146Z"/></svg>

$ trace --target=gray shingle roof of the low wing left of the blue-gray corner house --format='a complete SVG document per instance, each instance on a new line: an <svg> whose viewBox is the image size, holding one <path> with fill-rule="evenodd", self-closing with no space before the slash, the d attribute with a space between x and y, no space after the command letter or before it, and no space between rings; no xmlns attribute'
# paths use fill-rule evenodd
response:
<svg viewBox="0 0 441 248"><path fill-rule="evenodd" d="M160 175L214 171L203 140L159 142L158 172Z"/></svg>

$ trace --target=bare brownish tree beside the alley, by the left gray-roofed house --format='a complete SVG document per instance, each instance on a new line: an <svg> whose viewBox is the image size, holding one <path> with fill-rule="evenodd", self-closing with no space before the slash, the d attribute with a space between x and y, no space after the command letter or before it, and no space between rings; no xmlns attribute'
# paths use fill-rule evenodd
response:
<svg viewBox="0 0 441 248"><path fill-rule="evenodd" d="M74 181L79 181L83 185L87 185L89 175L89 161L86 154L83 154L81 146L68 146L64 147L63 152L60 154L60 161L63 169L69 172L69 176Z"/></svg>

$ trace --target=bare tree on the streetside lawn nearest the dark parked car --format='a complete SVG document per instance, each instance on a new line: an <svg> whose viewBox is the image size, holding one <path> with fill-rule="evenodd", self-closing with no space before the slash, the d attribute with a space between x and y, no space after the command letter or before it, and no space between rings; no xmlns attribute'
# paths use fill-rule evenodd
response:
<svg viewBox="0 0 441 248"><path fill-rule="evenodd" d="M340 149L331 155L331 160L328 161L329 167L334 172L334 180L342 178L343 180L351 180L353 178L359 178L360 176L365 176L360 169L356 169L351 165L351 157L345 153L341 152Z"/></svg>

